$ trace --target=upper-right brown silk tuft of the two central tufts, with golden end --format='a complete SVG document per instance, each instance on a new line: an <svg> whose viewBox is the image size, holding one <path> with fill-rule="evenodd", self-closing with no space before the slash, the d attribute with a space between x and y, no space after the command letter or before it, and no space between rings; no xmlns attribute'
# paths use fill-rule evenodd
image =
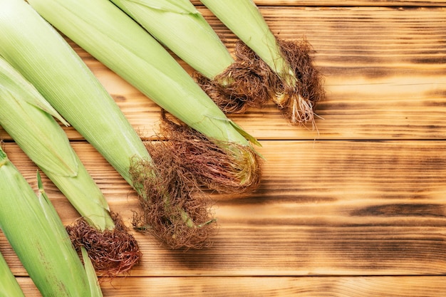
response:
<svg viewBox="0 0 446 297"><path fill-rule="evenodd" d="M261 180L260 157L251 145L210 140L196 130L162 117L160 133L167 138L166 152L199 186L224 194L254 191ZM150 155L160 155L150 145ZM160 147L160 146L158 146Z"/></svg>

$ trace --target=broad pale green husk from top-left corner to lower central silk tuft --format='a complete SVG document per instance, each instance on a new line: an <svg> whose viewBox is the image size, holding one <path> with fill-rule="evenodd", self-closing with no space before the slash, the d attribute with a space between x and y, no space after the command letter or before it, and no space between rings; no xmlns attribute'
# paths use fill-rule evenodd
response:
<svg viewBox="0 0 446 297"><path fill-rule="evenodd" d="M58 9L51 10L56 13ZM61 14L63 11L61 8ZM73 48L22 0L0 0L0 30L0 56L132 184L130 157L150 160L150 155Z"/></svg>

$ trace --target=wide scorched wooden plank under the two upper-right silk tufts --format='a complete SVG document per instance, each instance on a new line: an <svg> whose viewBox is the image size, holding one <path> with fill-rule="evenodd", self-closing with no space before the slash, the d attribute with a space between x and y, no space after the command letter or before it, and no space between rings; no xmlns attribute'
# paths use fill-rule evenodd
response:
<svg viewBox="0 0 446 297"><path fill-rule="evenodd" d="M446 9L264 8L282 38L306 35L326 76L318 131L291 127L274 105L232 118L261 140L442 139L446 132ZM232 50L235 38L204 10ZM76 47L141 132L152 137L157 105ZM185 66L184 63L182 63ZM187 68L187 66L185 66ZM191 71L190 68L187 68ZM71 139L80 135L67 129ZM0 129L0 138L9 136Z"/></svg>

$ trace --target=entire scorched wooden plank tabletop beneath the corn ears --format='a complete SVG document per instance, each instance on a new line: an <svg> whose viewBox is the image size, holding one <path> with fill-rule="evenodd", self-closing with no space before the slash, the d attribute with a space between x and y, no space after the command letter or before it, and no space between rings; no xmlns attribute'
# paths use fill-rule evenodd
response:
<svg viewBox="0 0 446 297"><path fill-rule="evenodd" d="M232 51L234 35L194 3ZM103 279L104 296L446 296L446 2L256 4L274 33L306 36L316 50L326 88L318 130L288 125L272 104L233 115L263 145L261 187L212 194L219 232L209 249L170 251L135 233L142 261ZM71 44L152 137L160 109ZM66 132L130 226L135 193ZM1 129L0 138L36 189L35 165ZM73 222L73 207L44 182L63 223ZM40 296L3 234L0 250L26 296Z"/></svg>

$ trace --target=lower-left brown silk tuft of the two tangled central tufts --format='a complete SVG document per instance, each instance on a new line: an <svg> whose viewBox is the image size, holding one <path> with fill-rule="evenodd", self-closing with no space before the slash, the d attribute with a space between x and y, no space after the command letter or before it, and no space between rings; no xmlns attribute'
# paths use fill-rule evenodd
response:
<svg viewBox="0 0 446 297"><path fill-rule="evenodd" d="M150 150L152 161L133 159L130 175L139 193L140 211L133 226L152 234L169 249L203 249L212 245L216 230L210 199L192 174L172 160L165 142Z"/></svg>

